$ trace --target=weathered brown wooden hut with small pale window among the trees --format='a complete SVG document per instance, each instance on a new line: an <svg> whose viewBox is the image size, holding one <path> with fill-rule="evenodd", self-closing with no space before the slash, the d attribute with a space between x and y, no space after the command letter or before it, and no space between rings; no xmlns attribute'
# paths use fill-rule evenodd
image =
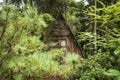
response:
<svg viewBox="0 0 120 80"><path fill-rule="evenodd" d="M55 24L51 31L50 45L52 48L66 48L66 52L78 53L84 58L81 48L68 25Z"/></svg>

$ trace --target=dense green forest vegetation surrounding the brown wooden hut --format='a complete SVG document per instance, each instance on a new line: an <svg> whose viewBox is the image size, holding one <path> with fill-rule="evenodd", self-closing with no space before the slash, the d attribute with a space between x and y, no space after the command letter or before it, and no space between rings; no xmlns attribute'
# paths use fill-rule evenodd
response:
<svg viewBox="0 0 120 80"><path fill-rule="evenodd" d="M22 8L11 1L0 11L0 80L120 80L119 0L22 0ZM47 31L59 20L70 26L85 59L48 49Z"/></svg>

